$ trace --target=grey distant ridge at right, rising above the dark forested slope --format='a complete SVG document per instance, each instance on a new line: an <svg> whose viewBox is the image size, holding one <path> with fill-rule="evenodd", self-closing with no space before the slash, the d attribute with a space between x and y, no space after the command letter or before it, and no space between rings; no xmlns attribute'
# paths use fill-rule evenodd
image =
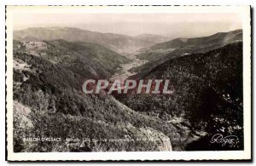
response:
<svg viewBox="0 0 256 166"><path fill-rule="evenodd" d="M141 54L137 57L143 60L152 58L149 53L156 52L160 54L192 54L195 52L204 53L212 49L218 49L228 43L242 41L242 31L218 32L207 37L194 38L176 38L164 43L157 43L147 49L141 49ZM148 55L148 57L147 57Z"/></svg>

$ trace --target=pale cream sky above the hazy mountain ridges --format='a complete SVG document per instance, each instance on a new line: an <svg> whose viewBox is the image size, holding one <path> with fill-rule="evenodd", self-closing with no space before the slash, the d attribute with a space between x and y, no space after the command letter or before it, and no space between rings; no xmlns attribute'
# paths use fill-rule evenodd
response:
<svg viewBox="0 0 256 166"><path fill-rule="evenodd" d="M15 14L14 29L78 27L130 36L202 37L241 29L238 14Z"/></svg>

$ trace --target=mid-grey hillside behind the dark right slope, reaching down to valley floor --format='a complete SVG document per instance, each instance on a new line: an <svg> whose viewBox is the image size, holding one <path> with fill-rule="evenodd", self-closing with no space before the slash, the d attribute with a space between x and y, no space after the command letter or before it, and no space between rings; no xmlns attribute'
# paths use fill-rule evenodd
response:
<svg viewBox="0 0 256 166"><path fill-rule="evenodd" d="M148 60L143 66L131 69L131 72L149 72L154 66L164 63L166 60L187 54L206 53L207 51L224 47L229 43L242 41L242 31L219 32L209 37L177 38L165 43L141 49L136 55L138 59Z"/></svg>

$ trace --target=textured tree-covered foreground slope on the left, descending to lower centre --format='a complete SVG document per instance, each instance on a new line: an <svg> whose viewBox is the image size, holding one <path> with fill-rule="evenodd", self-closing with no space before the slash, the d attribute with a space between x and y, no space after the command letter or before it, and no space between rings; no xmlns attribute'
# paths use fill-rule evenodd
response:
<svg viewBox="0 0 256 166"><path fill-rule="evenodd" d="M134 112L112 96L84 94L84 77L40 56L14 52L15 152L184 149L182 142L171 142L184 129ZM27 143L24 138L31 136L61 141Z"/></svg>

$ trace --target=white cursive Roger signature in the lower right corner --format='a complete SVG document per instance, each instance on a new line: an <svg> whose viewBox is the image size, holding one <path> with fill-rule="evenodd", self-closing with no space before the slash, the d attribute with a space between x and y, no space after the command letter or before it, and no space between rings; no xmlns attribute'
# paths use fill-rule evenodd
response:
<svg viewBox="0 0 256 166"><path fill-rule="evenodd" d="M222 144L222 146L225 146L226 144L229 144L230 147L236 146L236 141L238 141L238 137L236 135L228 135L228 136L223 136L221 134L216 134L212 136L212 140L210 143L218 143Z"/></svg>

